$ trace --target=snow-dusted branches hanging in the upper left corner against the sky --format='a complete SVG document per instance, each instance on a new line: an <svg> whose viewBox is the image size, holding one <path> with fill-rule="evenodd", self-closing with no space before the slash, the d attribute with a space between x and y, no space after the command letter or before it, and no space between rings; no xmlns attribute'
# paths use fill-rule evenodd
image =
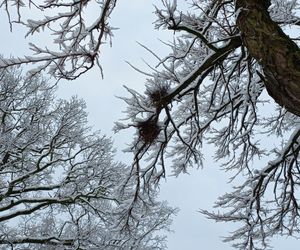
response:
<svg viewBox="0 0 300 250"><path fill-rule="evenodd" d="M15 2L15 3L12 3ZM115 0L103 1L2 1L12 25L23 24L28 28L27 37L38 36L40 32L50 32L53 48L29 43L32 55L24 58L1 58L0 69L16 65L35 64L31 74L46 71L57 79L73 80L93 66L99 66L101 46L112 37L109 16L116 6ZM26 8L36 12L39 19L26 19ZM86 11L96 13L90 20ZM14 13L17 12L15 16ZM30 17L32 18L31 15Z"/></svg>

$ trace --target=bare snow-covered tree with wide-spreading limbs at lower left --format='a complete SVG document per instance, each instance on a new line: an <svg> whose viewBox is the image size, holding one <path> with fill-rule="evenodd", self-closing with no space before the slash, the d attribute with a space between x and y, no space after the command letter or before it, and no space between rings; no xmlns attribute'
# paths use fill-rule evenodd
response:
<svg viewBox="0 0 300 250"><path fill-rule="evenodd" d="M175 210L155 193L131 208L130 168L90 132L82 100L54 93L38 75L1 71L0 248L164 249Z"/></svg>

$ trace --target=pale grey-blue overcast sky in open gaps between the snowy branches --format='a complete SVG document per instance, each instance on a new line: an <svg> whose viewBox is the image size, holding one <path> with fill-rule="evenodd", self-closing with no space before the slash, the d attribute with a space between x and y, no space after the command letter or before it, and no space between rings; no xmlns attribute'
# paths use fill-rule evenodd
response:
<svg viewBox="0 0 300 250"><path fill-rule="evenodd" d="M72 95L82 97L87 103L89 122L95 129L112 136L114 146L118 148L117 160L130 163L132 156L122 153L126 142L130 142L133 131L125 131L114 135L111 131L113 124L124 117L122 110L125 104L116 96L128 96L122 85L144 90L145 77L131 69L125 61L147 70L142 58L155 64L155 60L147 54L136 42L145 44L162 56L168 53L159 39L171 40L172 32L158 32L153 29L153 3L149 0L119 0L111 17L111 24L120 28L114 32L113 46L103 48L101 61L104 70L104 79L98 69L93 69L74 82L60 84L59 96L67 98ZM3 19L4 13L1 12ZM14 29L14 34L7 34L8 25L1 25L2 39L1 53L22 55L26 51L24 32ZM19 32L19 33L18 33ZM7 34L7 35L6 35ZM2 36L3 37L3 36ZM45 38L46 40L46 38ZM204 169L191 170L190 174L178 178L168 177L161 185L161 199L168 200L172 206L181 211L174 220L169 235L170 250L229 250L229 244L222 243L221 236L234 229L234 225L216 224L209 221L199 212L201 209L211 209L217 197L226 190L228 174L218 170L218 164L213 162L208 152L211 148L204 148L206 161ZM205 152L204 152L205 153ZM167 170L171 174L170 168ZM296 250L298 243L295 240L280 238L274 241L275 250Z"/></svg>

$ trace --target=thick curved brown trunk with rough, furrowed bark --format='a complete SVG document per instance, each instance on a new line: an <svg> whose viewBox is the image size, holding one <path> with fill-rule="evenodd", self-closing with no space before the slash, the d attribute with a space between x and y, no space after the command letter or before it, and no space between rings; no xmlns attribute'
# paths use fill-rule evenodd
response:
<svg viewBox="0 0 300 250"><path fill-rule="evenodd" d="M300 116L300 49L272 21L269 0L236 0L237 26L249 54L262 66L269 95Z"/></svg>

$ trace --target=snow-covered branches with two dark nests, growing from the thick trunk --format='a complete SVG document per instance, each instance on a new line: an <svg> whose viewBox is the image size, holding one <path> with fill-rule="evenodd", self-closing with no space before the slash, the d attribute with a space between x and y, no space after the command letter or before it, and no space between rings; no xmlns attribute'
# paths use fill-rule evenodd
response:
<svg viewBox="0 0 300 250"><path fill-rule="evenodd" d="M167 44L171 52L161 59L143 46L158 63L146 72L144 94L130 90L131 97L124 98L127 122L117 123L116 130L136 128L127 151L134 154L132 172L142 187L137 193L151 190L170 172L202 166L206 145L214 145L216 162L232 173L230 182L244 183L220 197L216 208L222 211L202 213L239 222L226 239L237 248L264 249L273 235L299 230L300 121L279 106L266 110L271 106L266 75L237 27L237 2L247 1L188 1L188 11L179 10L176 1L162 1L155 24L174 31ZM299 19L296 2L266 1L265 8L286 27ZM277 144L266 146L268 136ZM270 158L275 160L264 168L262 160Z"/></svg>

